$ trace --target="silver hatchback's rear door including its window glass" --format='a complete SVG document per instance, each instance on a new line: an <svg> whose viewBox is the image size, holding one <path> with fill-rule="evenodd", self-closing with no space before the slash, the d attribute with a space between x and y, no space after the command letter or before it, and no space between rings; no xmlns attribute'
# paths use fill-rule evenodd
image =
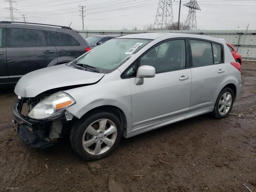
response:
<svg viewBox="0 0 256 192"><path fill-rule="evenodd" d="M192 90L190 111L211 108L226 78L224 47L206 40L190 39Z"/></svg>

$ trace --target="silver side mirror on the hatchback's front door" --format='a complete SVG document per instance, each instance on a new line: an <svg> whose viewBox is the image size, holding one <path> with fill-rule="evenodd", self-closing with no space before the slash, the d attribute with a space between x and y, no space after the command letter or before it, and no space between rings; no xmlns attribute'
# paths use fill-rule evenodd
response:
<svg viewBox="0 0 256 192"><path fill-rule="evenodd" d="M142 85L144 78L152 78L156 75L156 69L149 65L143 65L138 68L137 75L135 78L136 85Z"/></svg>

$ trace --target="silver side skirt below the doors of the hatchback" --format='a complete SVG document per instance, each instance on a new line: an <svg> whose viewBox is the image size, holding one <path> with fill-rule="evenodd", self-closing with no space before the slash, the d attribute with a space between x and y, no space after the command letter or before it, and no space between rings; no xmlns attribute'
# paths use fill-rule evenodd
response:
<svg viewBox="0 0 256 192"><path fill-rule="evenodd" d="M154 130L154 129L157 129L157 128L160 128L160 127L172 124L172 123L176 123L176 122L179 122L179 121L182 121L182 120L185 120L185 119L189 119L189 118L192 118L192 117L195 117L195 116L198 116L198 115L202 115L202 114L212 112L213 108L214 107L210 107L210 108L206 108L206 109L203 109L203 110L198 110L198 111L195 111L195 112L191 112L191 113L188 113L188 114L185 114L185 115L181 115L181 116L173 117L173 118L170 118L170 119L154 122L154 123L151 123L151 124L148 124L148 125L145 125L145 126L138 127L138 128L136 128L134 130L131 130L129 132L124 131L123 136L124 136L124 138L133 137L133 136L136 136L138 134L148 132L150 130Z"/></svg>

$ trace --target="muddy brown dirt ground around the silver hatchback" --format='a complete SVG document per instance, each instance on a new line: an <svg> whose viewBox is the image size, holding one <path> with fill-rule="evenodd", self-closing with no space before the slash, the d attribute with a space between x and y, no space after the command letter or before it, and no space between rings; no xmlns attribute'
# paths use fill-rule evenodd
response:
<svg viewBox="0 0 256 192"><path fill-rule="evenodd" d="M133 138L87 162L68 140L45 149L23 144L12 122L12 88L0 93L0 191L105 192L109 176L126 191L256 191L256 63L242 65L232 113L178 122Z"/></svg>

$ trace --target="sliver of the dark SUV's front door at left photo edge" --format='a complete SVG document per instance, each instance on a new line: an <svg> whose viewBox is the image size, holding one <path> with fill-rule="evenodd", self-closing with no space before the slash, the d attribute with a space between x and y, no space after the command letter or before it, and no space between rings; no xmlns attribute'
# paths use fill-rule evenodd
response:
<svg viewBox="0 0 256 192"><path fill-rule="evenodd" d="M6 27L0 26L0 84L8 82L9 78L6 64Z"/></svg>

